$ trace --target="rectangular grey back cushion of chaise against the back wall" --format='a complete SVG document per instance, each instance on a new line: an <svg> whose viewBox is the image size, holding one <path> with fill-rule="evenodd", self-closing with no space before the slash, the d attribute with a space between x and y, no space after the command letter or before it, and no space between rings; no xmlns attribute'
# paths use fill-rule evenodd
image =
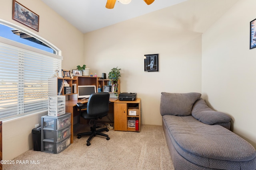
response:
<svg viewBox="0 0 256 170"><path fill-rule="evenodd" d="M200 93L161 93L160 113L161 115L191 115L192 106L200 99Z"/></svg>

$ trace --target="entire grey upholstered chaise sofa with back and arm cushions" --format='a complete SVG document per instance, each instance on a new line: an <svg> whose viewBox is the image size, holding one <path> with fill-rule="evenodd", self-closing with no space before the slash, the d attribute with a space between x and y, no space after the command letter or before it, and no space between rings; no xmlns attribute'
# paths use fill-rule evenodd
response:
<svg viewBox="0 0 256 170"><path fill-rule="evenodd" d="M175 170L256 170L254 147L200 93L162 92L160 113Z"/></svg>

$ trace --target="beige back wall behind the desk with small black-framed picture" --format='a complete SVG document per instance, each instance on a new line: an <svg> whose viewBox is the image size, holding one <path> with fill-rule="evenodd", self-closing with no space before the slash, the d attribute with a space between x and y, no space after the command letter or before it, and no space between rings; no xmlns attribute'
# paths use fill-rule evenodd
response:
<svg viewBox="0 0 256 170"><path fill-rule="evenodd" d="M142 124L162 125L161 92L201 92L202 32L236 1L188 0L86 33L84 62L98 75L122 68L121 92L142 99ZM159 72L144 72L146 54L159 54Z"/></svg>

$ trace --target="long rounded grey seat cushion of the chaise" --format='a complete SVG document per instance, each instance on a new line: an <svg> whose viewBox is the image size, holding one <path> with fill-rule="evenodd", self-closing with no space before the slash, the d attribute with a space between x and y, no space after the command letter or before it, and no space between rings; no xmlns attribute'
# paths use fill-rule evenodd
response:
<svg viewBox="0 0 256 170"><path fill-rule="evenodd" d="M174 148L189 162L206 169L255 169L254 147L228 129L192 115L164 115L162 120Z"/></svg>

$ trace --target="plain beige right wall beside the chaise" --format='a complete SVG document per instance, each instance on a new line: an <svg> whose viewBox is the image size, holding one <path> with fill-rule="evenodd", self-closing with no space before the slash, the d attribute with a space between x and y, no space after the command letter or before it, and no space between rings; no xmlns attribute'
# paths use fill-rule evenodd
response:
<svg viewBox="0 0 256 170"><path fill-rule="evenodd" d="M202 94L232 117L232 129L256 148L256 49L249 49L256 1L239 0L202 36Z"/></svg>

